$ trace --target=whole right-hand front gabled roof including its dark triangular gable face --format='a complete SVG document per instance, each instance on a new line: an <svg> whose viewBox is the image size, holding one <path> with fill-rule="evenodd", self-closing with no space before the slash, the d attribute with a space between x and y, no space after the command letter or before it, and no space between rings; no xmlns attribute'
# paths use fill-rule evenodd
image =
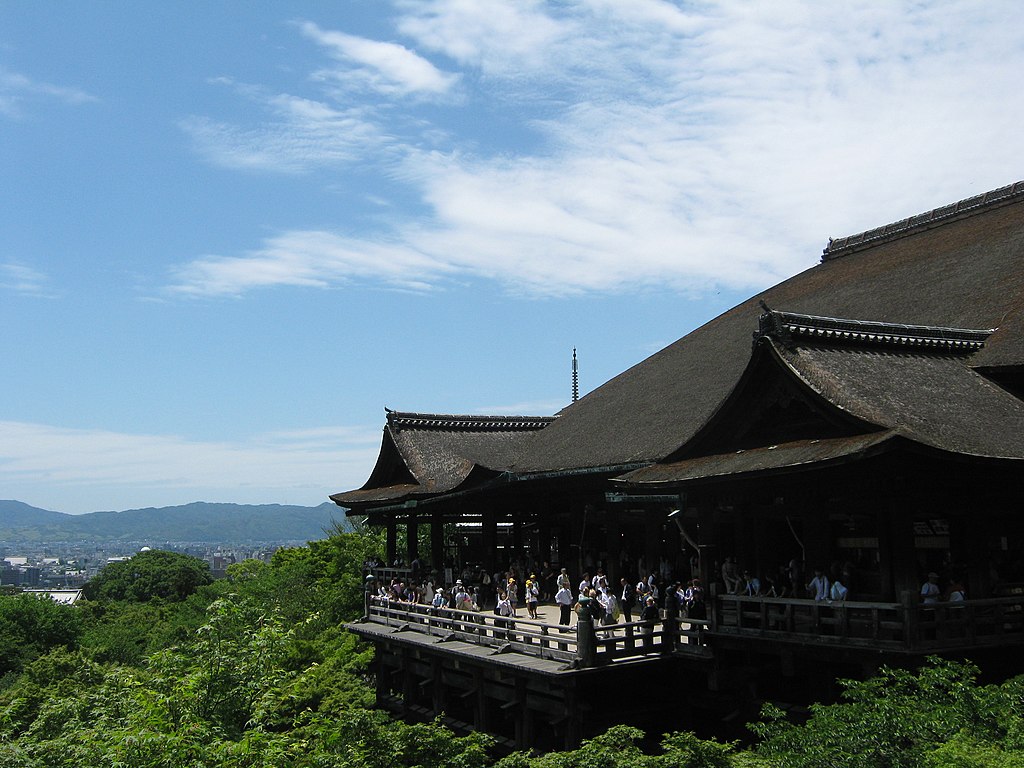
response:
<svg viewBox="0 0 1024 768"><path fill-rule="evenodd" d="M722 409L663 462L621 480L657 485L793 471L900 442L1024 460L1024 402L966 365L992 331L779 311L759 325L746 371ZM803 434L794 434L792 415L774 434L736 431L783 400L816 415L798 420Z"/></svg>

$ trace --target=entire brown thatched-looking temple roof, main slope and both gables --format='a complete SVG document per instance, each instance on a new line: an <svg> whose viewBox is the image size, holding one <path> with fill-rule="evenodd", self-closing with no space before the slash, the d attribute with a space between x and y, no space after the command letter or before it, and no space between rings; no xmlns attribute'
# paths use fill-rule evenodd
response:
<svg viewBox="0 0 1024 768"><path fill-rule="evenodd" d="M752 346L755 335L761 339ZM892 338L874 338L885 336ZM780 432L784 446L740 435L737 415L723 427L753 367L757 376L790 381L803 403L803 420ZM624 474L657 462L627 479L682 481L902 444L1024 459L1024 404L1015 396L1022 389L1018 182L829 241L816 266L634 366L557 419L504 417L504 428L484 428L472 421L480 417L420 415L423 423L406 425L416 415L389 414L370 480L332 498L383 502L444 494L488 473L522 479L622 467ZM460 420L466 423L455 426ZM763 436L771 435L766 426ZM740 437L742 444L725 444Z"/></svg>

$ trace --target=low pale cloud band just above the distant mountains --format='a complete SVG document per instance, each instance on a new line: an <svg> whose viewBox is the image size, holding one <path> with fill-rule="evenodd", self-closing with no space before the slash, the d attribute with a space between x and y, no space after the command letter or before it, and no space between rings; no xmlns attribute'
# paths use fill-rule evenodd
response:
<svg viewBox="0 0 1024 768"><path fill-rule="evenodd" d="M0 486L11 498L46 487L54 500L78 500L76 509L28 500L61 512L153 506L155 499L319 504L327 494L361 484L379 446L379 426L203 442L0 421Z"/></svg>

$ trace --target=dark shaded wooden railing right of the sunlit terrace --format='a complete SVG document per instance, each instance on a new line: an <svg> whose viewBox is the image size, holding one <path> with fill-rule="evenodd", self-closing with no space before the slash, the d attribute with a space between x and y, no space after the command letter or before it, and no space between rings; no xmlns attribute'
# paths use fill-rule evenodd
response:
<svg viewBox="0 0 1024 768"><path fill-rule="evenodd" d="M1020 643L1024 596L924 605L718 595L712 634L911 652Z"/></svg>

